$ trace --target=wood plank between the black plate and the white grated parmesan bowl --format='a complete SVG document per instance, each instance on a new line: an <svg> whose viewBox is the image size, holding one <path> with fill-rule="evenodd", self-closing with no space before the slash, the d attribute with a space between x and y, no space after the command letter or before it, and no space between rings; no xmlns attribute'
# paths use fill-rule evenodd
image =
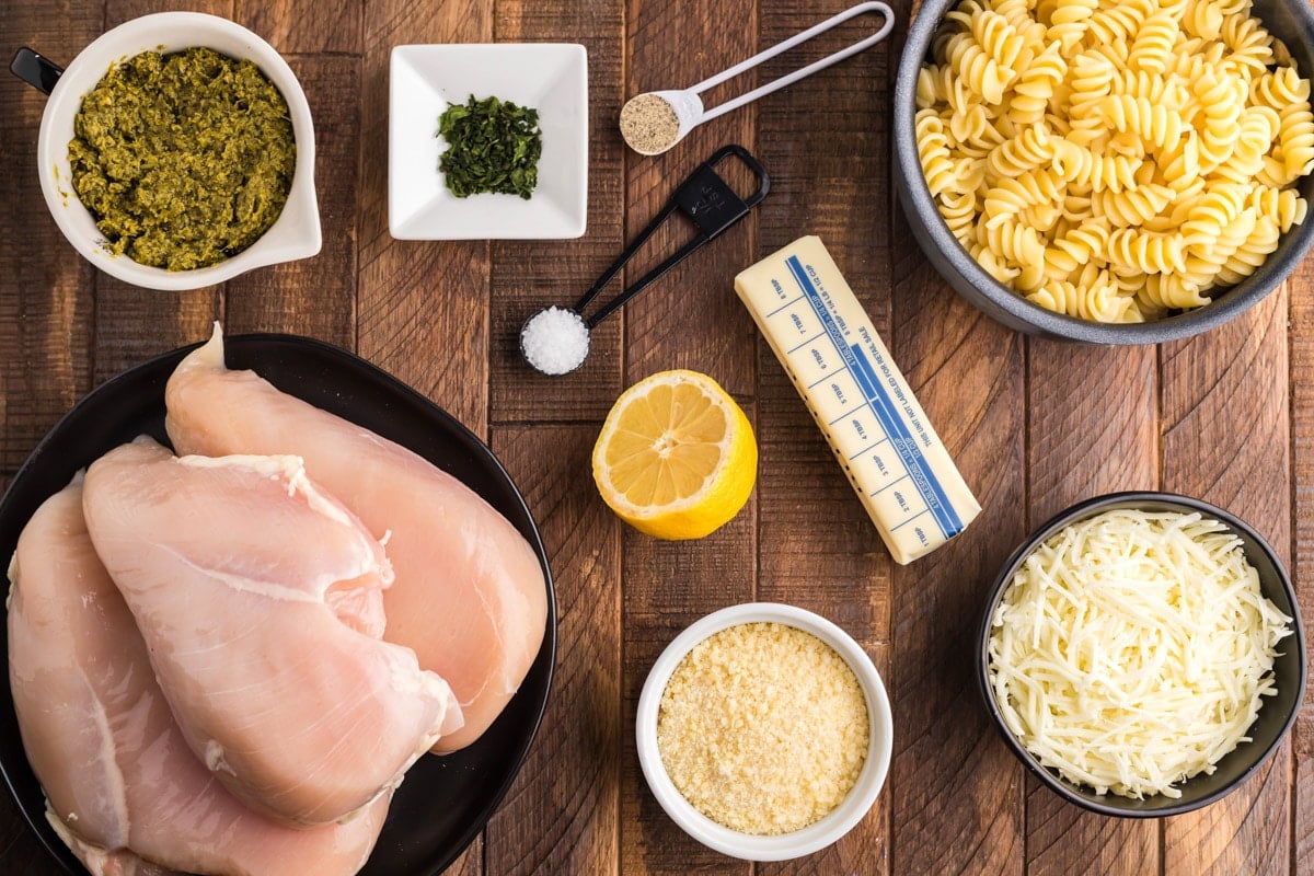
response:
<svg viewBox="0 0 1314 876"><path fill-rule="evenodd" d="M614 873L620 801L620 542L581 490L595 431L495 428L493 449L524 493L552 558L557 671L537 741L489 823L490 873Z"/></svg>

